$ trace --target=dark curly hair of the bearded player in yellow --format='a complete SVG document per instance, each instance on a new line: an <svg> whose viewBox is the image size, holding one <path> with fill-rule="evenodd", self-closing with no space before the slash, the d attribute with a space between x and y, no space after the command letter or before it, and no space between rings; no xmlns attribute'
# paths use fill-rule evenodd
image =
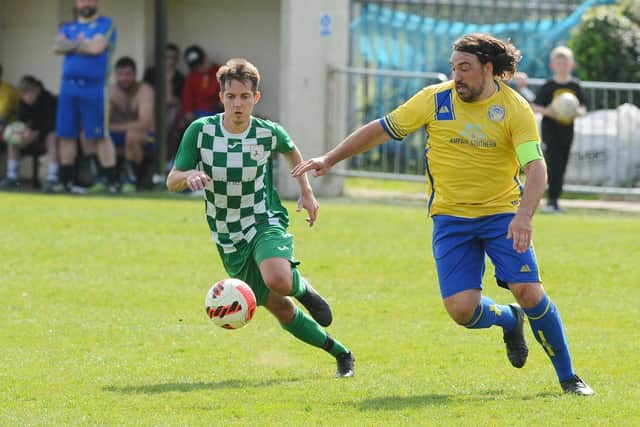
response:
<svg viewBox="0 0 640 427"><path fill-rule="evenodd" d="M491 62L494 77L502 80L511 79L522 59L520 51L513 44L484 33L460 37L453 43L453 49L474 54L482 64Z"/></svg>

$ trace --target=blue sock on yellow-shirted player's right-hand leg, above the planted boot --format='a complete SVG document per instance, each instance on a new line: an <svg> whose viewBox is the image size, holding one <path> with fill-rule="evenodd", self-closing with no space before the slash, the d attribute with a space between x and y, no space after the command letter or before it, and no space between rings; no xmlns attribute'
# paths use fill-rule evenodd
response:
<svg viewBox="0 0 640 427"><path fill-rule="evenodd" d="M558 379L566 381L573 378L575 373L571 365L569 344L555 304L545 295L537 306L525 308L524 312L529 318L533 335L551 359Z"/></svg>

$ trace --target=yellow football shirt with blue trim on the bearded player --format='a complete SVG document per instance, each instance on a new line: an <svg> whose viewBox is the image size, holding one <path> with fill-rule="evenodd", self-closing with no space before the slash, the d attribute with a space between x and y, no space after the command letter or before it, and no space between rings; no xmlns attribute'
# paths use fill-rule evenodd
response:
<svg viewBox="0 0 640 427"><path fill-rule="evenodd" d="M524 163L542 158L531 107L502 82L487 99L462 101L453 81L427 86L380 119L403 139L424 126L430 215L477 218L515 212L522 185L516 150L535 144ZM521 156L522 160L522 156ZM524 164L523 164L524 166Z"/></svg>

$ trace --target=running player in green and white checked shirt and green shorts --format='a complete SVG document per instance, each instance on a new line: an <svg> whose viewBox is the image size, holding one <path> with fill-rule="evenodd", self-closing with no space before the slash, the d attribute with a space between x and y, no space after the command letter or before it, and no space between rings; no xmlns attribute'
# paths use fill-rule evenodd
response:
<svg viewBox="0 0 640 427"><path fill-rule="evenodd" d="M280 125L252 116L260 100L260 74L253 64L231 59L217 78L224 112L191 123L167 187L204 190L207 222L227 273L249 284L258 305L285 330L333 355L336 377L352 377L353 353L323 329L332 321L331 308L298 271L289 216L273 184L273 155L282 153L293 167L302 162L300 151ZM318 203L307 177L297 181L298 210L307 210L311 226Z"/></svg>

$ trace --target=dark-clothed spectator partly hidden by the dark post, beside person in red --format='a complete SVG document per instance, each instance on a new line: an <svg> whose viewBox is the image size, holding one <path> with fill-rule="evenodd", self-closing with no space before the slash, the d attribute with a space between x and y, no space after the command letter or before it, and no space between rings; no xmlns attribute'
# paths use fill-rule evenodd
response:
<svg viewBox="0 0 640 427"><path fill-rule="evenodd" d="M167 77L167 158L169 165L173 164L173 158L178 151L178 143L184 125L182 121L182 92L184 90L184 74L178 69L180 61L180 48L169 43L166 52L166 77ZM144 72L144 81L155 87L157 70L155 66L149 67ZM168 167L170 169L171 166Z"/></svg>

